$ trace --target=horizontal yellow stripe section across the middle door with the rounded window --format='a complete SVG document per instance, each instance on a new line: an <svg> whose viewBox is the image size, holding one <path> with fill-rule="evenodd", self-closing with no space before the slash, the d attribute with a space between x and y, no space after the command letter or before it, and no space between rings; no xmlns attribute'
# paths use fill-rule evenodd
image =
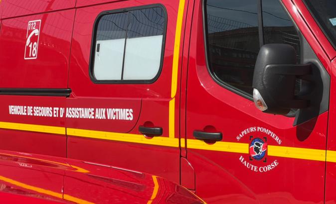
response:
<svg viewBox="0 0 336 204"><path fill-rule="evenodd" d="M66 130L67 130L68 135L77 136L77 137L87 137L87 138L114 140L114 141L120 141L120 142L161 145L161 146L168 146L168 147L179 147L178 138L153 137L152 139L148 139L144 135L140 135L140 134L105 132L105 131L84 130L84 129L75 129L75 128L67 128Z"/></svg>

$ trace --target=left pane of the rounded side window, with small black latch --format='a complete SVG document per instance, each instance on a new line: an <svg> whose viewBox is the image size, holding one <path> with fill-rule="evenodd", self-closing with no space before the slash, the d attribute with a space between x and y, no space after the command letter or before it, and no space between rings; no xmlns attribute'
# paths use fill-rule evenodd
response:
<svg viewBox="0 0 336 204"><path fill-rule="evenodd" d="M127 19L127 13L116 13L99 20L94 59L97 80L121 80Z"/></svg>

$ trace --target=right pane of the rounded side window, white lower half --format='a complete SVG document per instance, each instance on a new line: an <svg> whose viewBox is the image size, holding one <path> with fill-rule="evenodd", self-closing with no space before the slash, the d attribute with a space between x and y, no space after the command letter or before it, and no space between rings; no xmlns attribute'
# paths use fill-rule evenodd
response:
<svg viewBox="0 0 336 204"><path fill-rule="evenodd" d="M129 12L124 80L153 79L161 62L165 17L161 8Z"/></svg>

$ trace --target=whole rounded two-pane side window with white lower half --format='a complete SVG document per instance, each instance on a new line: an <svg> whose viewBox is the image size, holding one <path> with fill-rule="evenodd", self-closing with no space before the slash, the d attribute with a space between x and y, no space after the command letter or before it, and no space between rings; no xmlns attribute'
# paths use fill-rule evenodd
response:
<svg viewBox="0 0 336 204"><path fill-rule="evenodd" d="M91 71L95 80L153 80L161 67L165 27L161 7L101 16Z"/></svg>

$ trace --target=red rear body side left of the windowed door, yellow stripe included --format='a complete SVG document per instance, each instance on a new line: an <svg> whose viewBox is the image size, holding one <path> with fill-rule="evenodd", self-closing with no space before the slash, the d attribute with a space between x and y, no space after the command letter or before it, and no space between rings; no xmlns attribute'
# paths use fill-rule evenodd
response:
<svg viewBox="0 0 336 204"><path fill-rule="evenodd" d="M75 9L60 9L74 4L75 0L1 1L6 18L0 29L0 88L68 87ZM54 10L58 11L48 12ZM1 95L0 148L65 157L65 116L42 113L50 107L65 108L65 99ZM24 112L15 112L15 107Z"/></svg>

